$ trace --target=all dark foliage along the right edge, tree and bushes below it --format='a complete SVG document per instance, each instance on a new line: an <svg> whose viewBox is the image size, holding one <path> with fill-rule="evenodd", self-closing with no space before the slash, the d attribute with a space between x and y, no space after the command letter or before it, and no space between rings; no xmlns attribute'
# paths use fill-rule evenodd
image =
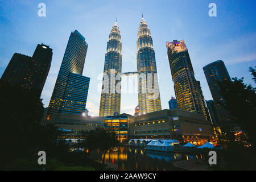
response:
<svg viewBox="0 0 256 182"><path fill-rule="evenodd" d="M255 81L255 70L249 69ZM232 78L233 81L224 80L218 83L220 94L225 102L222 106L235 118L245 133L234 136L229 127L222 127L217 133L219 143L225 146L217 151L218 162L213 169L218 170L255 170L256 169L256 94L255 88L243 83L243 78Z"/></svg>

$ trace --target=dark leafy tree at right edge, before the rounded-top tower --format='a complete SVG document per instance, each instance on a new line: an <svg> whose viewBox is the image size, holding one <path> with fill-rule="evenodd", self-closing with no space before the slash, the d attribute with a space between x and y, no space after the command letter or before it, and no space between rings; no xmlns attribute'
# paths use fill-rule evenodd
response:
<svg viewBox="0 0 256 182"><path fill-rule="evenodd" d="M224 107L236 118L251 143L256 144L256 94L251 85L243 83L243 78L219 82L220 94L224 98Z"/></svg>

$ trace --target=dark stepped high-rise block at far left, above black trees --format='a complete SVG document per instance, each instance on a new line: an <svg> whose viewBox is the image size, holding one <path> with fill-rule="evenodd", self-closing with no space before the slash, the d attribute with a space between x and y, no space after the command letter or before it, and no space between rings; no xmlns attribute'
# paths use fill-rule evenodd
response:
<svg viewBox="0 0 256 182"><path fill-rule="evenodd" d="M14 53L1 80L35 90L40 97L52 61L52 49L38 44L32 57Z"/></svg>

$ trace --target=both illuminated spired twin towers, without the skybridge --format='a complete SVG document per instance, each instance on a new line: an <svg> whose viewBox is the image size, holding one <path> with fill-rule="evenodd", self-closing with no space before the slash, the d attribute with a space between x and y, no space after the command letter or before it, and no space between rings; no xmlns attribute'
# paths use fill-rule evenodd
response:
<svg viewBox="0 0 256 182"><path fill-rule="evenodd" d="M142 17L137 39L139 114L161 110L158 76L150 30ZM122 76L121 34L115 21L105 54L100 116L120 114Z"/></svg>

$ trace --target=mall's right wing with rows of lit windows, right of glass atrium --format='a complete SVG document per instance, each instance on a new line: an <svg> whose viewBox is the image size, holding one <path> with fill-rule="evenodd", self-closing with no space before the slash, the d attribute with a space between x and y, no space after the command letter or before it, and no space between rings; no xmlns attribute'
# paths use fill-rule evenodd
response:
<svg viewBox="0 0 256 182"><path fill-rule="evenodd" d="M164 109L129 118L129 138L176 139L204 144L216 142L212 124L203 114L180 109Z"/></svg>

